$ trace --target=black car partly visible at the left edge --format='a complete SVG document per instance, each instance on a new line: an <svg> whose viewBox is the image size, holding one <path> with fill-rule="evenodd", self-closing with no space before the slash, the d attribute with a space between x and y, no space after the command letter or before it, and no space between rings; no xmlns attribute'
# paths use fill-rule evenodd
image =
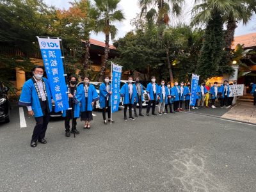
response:
<svg viewBox="0 0 256 192"><path fill-rule="evenodd" d="M4 84L0 81L0 122L10 122L11 114L10 114L10 101L9 101L9 88L4 86Z"/></svg>

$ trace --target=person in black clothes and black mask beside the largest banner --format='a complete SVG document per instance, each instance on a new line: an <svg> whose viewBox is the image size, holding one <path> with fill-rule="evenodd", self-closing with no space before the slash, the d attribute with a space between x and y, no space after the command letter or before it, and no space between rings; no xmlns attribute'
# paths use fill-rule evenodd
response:
<svg viewBox="0 0 256 192"><path fill-rule="evenodd" d="M68 91L68 103L70 106L70 109L63 111L63 115L65 117L65 136L70 137L70 133L73 134L79 134L79 131L76 129L76 120L80 116L80 106L79 101L76 99L76 92L77 92L77 77L76 76L70 76L69 77L69 83L67 87ZM72 120L73 118L73 120ZM70 131L70 119L72 120L72 128Z"/></svg>

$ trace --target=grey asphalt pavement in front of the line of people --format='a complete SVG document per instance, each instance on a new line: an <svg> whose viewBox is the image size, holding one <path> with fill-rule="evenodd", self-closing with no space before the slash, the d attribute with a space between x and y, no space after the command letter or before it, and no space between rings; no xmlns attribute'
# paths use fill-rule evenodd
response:
<svg viewBox="0 0 256 192"><path fill-rule="evenodd" d="M52 120L31 148L33 118L0 125L1 191L256 191L256 127L192 113L122 120L65 138Z"/></svg>

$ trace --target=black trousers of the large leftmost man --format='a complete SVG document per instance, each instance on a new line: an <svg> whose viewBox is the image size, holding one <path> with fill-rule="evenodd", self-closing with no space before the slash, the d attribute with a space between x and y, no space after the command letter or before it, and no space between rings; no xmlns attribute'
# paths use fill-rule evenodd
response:
<svg viewBox="0 0 256 192"><path fill-rule="evenodd" d="M45 137L45 132L47 129L47 125L50 120L50 115L47 111L46 101L43 101L42 111L45 112L44 116L35 117L36 125L34 127L33 135L31 141L42 140Z"/></svg>

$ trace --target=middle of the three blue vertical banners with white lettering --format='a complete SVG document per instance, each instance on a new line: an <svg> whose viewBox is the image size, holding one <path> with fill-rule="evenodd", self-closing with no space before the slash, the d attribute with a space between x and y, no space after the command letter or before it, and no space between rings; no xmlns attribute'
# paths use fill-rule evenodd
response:
<svg viewBox="0 0 256 192"><path fill-rule="evenodd" d="M120 102L120 81L122 76L122 66L112 63L112 100L111 112L118 111Z"/></svg>

